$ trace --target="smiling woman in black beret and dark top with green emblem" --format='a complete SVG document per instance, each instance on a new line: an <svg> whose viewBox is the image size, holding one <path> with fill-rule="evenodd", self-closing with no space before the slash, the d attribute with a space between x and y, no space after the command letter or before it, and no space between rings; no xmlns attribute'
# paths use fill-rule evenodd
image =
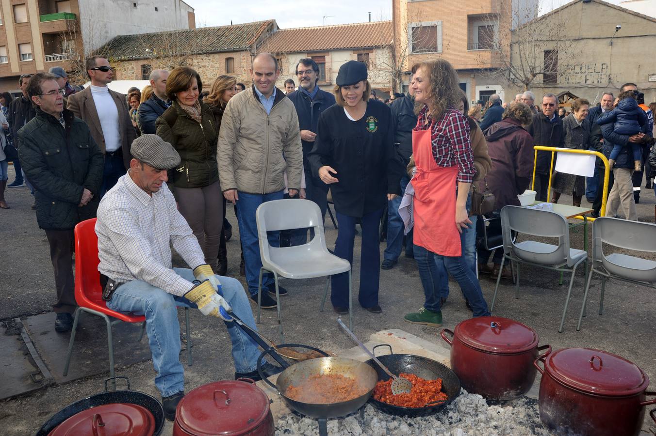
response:
<svg viewBox="0 0 656 436"><path fill-rule="evenodd" d="M379 314L380 218L388 200L400 194L403 164L394 148L390 108L369 100L367 66L346 62L335 82L337 104L319 117L308 160L312 174L331 185L339 227L335 255L351 264L356 223L361 223L358 300L363 308ZM348 273L333 276L331 301L338 314L348 313L348 287Z"/></svg>

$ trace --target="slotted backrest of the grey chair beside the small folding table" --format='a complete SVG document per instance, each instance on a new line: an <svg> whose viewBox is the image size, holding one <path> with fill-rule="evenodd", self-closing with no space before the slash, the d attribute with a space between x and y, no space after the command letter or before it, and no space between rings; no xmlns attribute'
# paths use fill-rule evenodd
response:
<svg viewBox="0 0 656 436"><path fill-rule="evenodd" d="M558 247L548 253L527 251L514 243L512 230L543 238L558 238ZM504 206L501 209L501 231L506 254L512 253L525 261L545 265L558 265L565 262L567 266L573 266L574 264L569 256L569 227L567 226L567 220L556 212L522 208L520 206Z"/></svg>

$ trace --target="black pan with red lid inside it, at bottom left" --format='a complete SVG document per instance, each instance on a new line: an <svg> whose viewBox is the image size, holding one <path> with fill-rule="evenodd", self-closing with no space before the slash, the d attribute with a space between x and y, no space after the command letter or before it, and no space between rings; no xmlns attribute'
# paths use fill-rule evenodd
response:
<svg viewBox="0 0 656 436"><path fill-rule="evenodd" d="M116 378L125 378L125 380L127 380L127 390L107 390L107 382L115 380ZM157 436L161 433L162 428L164 427L164 409L161 403L159 403L159 401L152 395L139 391L131 391L130 380L127 377L112 377L105 380L104 392L96 393L96 395L91 395L91 397L75 401L72 405L64 407L64 409L60 410L47 420L45 424L41 426L41 429L37 431L35 436L47 436L54 427L62 424L62 422L83 410L112 403L128 403L145 407L155 417L155 432L153 434Z"/></svg>

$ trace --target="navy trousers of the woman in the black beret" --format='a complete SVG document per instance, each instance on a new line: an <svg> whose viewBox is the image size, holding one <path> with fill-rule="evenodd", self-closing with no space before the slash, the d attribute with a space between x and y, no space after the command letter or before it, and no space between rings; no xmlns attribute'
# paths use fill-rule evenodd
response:
<svg viewBox="0 0 656 436"><path fill-rule="evenodd" d="M362 249L360 255L360 289L358 301L364 308L378 304L380 282L380 217L384 209L369 212L359 218L362 226ZM337 243L335 255L346 259L353 266L353 244L356 238L358 218L336 212ZM335 274L332 279L331 302L333 306L348 307L348 272Z"/></svg>

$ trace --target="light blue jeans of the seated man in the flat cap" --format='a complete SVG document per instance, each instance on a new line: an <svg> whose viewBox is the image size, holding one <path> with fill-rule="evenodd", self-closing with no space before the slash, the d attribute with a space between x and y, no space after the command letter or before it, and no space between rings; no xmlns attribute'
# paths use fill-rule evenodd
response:
<svg viewBox="0 0 656 436"><path fill-rule="evenodd" d="M188 268L173 268L182 278L192 282L194 272ZM238 280L220 277L222 294L232 305L233 312L251 329L256 329L251 305ZM153 355L153 366L157 371L155 386L162 397L184 391L184 371L180 363L180 324L176 306L195 308L196 305L184 297L171 295L142 280L121 285L107 307L117 312L133 312L146 316L148 345ZM218 321L220 318L216 318ZM235 323L225 323L232 342L232 359L237 372L255 371L260 355L257 344L241 331Z"/></svg>

